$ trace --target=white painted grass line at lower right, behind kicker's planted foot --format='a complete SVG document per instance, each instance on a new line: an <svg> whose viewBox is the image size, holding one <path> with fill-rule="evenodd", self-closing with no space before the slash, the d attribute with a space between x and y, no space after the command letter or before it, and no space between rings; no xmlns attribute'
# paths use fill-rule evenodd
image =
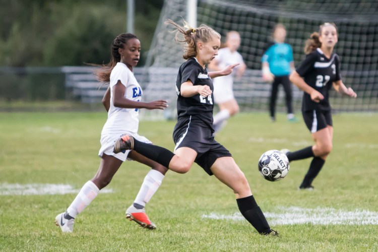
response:
<svg viewBox="0 0 378 252"><path fill-rule="evenodd" d="M265 216L272 225L378 225L378 212L369 210L337 210L334 208L279 208L278 212L266 212ZM214 220L245 220L240 213L223 215L218 213L204 214L202 218Z"/></svg>

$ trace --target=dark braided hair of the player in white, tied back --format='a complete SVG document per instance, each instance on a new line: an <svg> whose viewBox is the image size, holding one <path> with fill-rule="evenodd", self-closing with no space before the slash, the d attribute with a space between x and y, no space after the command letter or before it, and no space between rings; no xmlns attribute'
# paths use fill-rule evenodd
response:
<svg viewBox="0 0 378 252"><path fill-rule="evenodd" d="M111 58L110 62L107 65L95 65L101 66L100 69L95 71L95 75L97 76L97 80L100 82L109 82L110 81L110 73L117 65L117 63L121 60L121 55L118 52L119 48L123 48L124 44L126 44L130 39L137 38L134 34L131 33L121 33L115 37L115 39L111 42L110 50L111 50Z"/></svg>

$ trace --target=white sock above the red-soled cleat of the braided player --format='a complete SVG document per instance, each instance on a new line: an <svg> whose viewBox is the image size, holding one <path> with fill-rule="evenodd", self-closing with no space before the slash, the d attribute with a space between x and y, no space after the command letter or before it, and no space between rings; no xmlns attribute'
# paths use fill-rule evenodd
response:
<svg viewBox="0 0 378 252"><path fill-rule="evenodd" d="M143 181L142 186L139 190L137 198L135 198L134 203L137 203L138 205L145 207L146 203L148 203L150 201L152 196L158 190L159 186L161 185L163 178L164 178L163 174L161 174L157 170L151 169L147 173L146 177L144 178L144 181Z"/></svg>

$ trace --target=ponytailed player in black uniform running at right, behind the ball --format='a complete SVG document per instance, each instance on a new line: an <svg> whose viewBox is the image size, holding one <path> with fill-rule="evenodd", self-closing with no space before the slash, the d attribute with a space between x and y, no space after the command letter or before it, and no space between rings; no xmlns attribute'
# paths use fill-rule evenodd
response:
<svg viewBox="0 0 378 252"><path fill-rule="evenodd" d="M318 175L332 150L333 127L329 90L333 86L341 94L357 96L353 89L345 87L341 81L339 56L333 53L337 39L335 24L321 25L319 33L312 33L306 41L305 60L290 75L290 81L304 91L302 115L315 141L313 146L287 152L289 161L313 157L300 189L313 188L312 180Z"/></svg>

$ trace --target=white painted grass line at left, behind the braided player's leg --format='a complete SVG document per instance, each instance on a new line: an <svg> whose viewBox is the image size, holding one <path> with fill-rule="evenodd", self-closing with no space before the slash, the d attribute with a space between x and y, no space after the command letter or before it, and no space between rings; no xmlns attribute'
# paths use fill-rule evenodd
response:
<svg viewBox="0 0 378 252"><path fill-rule="evenodd" d="M70 184L0 184L0 195L54 195L54 194L77 194L79 189L75 189ZM100 193L109 194L113 190L105 188Z"/></svg>

